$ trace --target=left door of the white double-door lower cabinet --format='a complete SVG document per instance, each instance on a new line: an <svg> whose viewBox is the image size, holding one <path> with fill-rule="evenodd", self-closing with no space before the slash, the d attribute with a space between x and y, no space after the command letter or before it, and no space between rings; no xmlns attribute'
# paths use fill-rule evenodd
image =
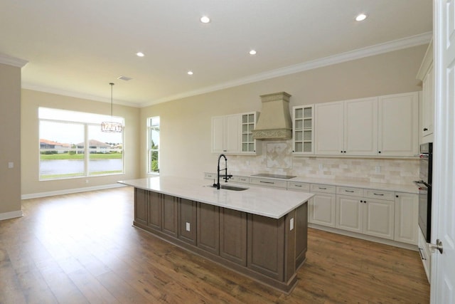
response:
<svg viewBox="0 0 455 304"><path fill-rule="evenodd" d="M336 228L363 233L362 198L336 196Z"/></svg>

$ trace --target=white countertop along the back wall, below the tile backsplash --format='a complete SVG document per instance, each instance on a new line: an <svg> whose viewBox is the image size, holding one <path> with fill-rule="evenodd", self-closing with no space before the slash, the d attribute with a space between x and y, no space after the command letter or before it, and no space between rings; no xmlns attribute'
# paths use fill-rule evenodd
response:
<svg viewBox="0 0 455 304"><path fill-rule="evenodd" d="M264 172L259 172L264 173ZM251 172L229 172L229 174L233 174L239 177L254 177ZM284 174L284 173L279 173ZM259 177L260 179L274 179L270 177ZM314 177L294 177L291 179L274 179L279 181L286 181L286 182L304 182L308 184L327 184L332 186L340 186L340 187L355 187L355 188L363 188L363 189L375 189L375 190L385 190L385 191L393 191L393 192L406 192L406 193L419 193L419 188L413 183L409 182L408 184L385 184L385 183L372 183L372 182L355 182L348 179L317 179Z"/></svg>

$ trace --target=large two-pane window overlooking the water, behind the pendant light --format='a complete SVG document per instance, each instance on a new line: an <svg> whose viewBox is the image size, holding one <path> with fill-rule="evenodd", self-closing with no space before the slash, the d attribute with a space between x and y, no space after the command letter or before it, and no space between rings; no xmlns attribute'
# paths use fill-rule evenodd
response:
<svg viewBox="0 0 455 304"><path fill-rule="evenodd" d="M123 132L101 132L122 117L39 108L40 180L124 173Z"/></svg>

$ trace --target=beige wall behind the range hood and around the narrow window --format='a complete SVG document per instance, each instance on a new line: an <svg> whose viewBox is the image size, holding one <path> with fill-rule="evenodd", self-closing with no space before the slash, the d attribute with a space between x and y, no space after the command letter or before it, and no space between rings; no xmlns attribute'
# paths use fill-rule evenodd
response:
<svg viewBox="0 0 455 304"><path fill-rule="evenodd" d="M202 177L203 171L215 170L218 156L210 153L210 117L260 112L259 95L281 91L292 95L292 107L422 90L416 74L426 49L407 48L142 108L141 139L146 138L146 117L160 116L161 175ZM255 157L228 159L233 167L242 167L232 162ZM146 143L141 140L141 177L146 176L145 162ZM299 174L298 169L293 173Z"/></svg>

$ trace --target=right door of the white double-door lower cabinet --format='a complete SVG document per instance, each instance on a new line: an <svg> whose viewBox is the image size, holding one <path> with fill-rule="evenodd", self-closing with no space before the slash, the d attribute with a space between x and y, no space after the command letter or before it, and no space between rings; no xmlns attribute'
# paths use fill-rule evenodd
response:
<svg viewBox="0 0 455 304"><path fill-rule="evenodd" d="M365 199L363 204L363 234L393 239L395 202L380 199Z"/></svg>

